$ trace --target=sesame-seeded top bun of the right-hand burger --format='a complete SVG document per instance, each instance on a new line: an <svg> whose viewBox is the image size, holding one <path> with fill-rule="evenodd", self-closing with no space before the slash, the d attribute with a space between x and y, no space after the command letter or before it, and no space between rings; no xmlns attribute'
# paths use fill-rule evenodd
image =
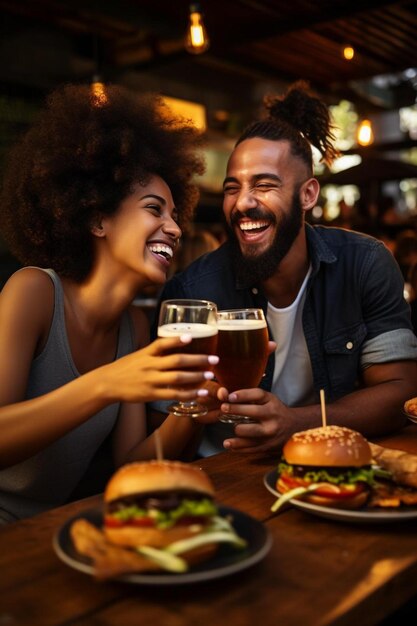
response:
<svg viewBox="0 0 417 626"><path fill-rule="evenodd" d="M369 443L358 432L343 426L311 428L295 433L285 444L283 456L291 465L362 467L370 465Z"/></svg>

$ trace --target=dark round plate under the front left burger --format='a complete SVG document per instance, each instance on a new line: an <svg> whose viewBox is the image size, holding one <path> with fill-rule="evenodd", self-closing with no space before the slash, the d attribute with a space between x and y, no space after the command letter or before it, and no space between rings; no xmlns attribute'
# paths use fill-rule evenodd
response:
<svg viewBox="0 0 417 626"><path fill-rule="evenodd" d="M246 513L230 507L219 506L219 514L232 518L234 529L240 537L247 541L245 549L237 550L231 546L221 545L213 558L191 567L184 574L171 574L169 572L125 574L119 576L117 580L139 585L184 585L235 574L255 565L265 557L272 546L272 537L266 526ZM100 509L82 511L61 526L54 536L53 547L64 563L80 572L94 576L91 559L82 556L75 550L69 532L72 523L79 518L88 520L97 528L101 528L103 523Z"/></svg>

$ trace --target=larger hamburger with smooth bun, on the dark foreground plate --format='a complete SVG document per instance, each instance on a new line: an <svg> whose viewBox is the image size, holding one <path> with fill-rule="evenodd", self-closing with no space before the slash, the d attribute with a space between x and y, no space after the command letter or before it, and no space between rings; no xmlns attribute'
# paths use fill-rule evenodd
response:
<svg viewBox="0 0 417 626"><path fill-rule="evenodd" d="M219 516L205 472L179 461L131 463L104 492L103 531L111 544L134 549L159 566L185 571L205 560L220 542L243 547L230 522ZM180 563L177 558L180 556ZM178 570L176 570L178 566Z"/></svg>

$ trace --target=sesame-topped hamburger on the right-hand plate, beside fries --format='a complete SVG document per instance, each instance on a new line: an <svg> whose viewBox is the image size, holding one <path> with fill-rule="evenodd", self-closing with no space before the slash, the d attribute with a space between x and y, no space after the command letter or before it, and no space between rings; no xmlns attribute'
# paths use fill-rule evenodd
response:
<svg viewBox="0 0 417 626"><path fill-rule="evenodd" d="M273 505L301 498L312 504L358 509L374 482L369 443L343 426L324 426L295 433L285 444L276 488L284 494Z"/></svg>

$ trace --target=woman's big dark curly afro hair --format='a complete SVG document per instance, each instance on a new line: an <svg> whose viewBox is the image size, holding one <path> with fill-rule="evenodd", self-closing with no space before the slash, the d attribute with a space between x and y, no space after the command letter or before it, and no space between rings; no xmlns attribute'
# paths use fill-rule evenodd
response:
<svg viewBox="0 0 417 626"><path fill-rule="evenodd" d="M52 267L83 280L93 262L90 229L115 213L135 183L160 176L170 187L182 228L198 200L204 172L201 135L173 117L155 95L106 86L66 85L12 150L0 204L0 226L23 265Z"/></svg>

